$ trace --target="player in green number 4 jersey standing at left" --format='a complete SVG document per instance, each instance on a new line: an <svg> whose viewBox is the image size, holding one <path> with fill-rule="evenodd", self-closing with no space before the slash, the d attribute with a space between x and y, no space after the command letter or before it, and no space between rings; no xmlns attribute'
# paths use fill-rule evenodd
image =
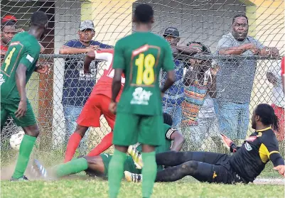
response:
<svg viewBox="0 0 285 198"><path fill-rule="evenodd" d="M8 116L12 116L16 125L25 131L11 181L28 180L23 173L39 133L33 109L26 97L26 83L34 71L48 71L47 65L36 67L41 50L38 40L43 38L47 27L45 13L33 13L30 30L14 36L1 65L1 131Z"/></svg>

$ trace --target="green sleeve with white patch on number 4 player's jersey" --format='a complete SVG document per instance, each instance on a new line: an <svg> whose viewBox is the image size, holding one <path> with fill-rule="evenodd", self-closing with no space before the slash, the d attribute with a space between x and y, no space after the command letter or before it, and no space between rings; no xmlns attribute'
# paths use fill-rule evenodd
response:
<svg viewBox="0 0 285 198"><path fill-rule="evenodd" d="M23 55L21 56L21 60L19 64L23 64L27 67L27 70L30 70L33 65L35 65L35 62L38 61L38 56L40 55L40 50L36 50L32 46L25 46L25 51Z"/></svg>

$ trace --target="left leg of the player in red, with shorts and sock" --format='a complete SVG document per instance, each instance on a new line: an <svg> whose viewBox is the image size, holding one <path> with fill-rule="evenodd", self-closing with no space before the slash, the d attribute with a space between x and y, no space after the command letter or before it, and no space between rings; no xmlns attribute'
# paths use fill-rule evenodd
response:
<svg viewBox="0 0 285 198"><path fill-rule="evenodd" d="M90 126L100 126L101 110L97 107L100 103L100 98L97 95L90 96L83 107L80 116L77 119L77 127L68 141L68 146L65 153L65 163L70 161L78 148L82 137Z"/></svg>

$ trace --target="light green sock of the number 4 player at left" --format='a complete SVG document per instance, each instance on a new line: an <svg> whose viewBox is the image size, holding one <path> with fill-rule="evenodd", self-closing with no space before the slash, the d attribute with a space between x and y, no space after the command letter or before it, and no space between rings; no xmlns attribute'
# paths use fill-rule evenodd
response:
<svg viewBox="0 0 285 198"><path fill-rule="evenodd" d="M25 172L28 160L30 159L30 155L33 150L33 145L36 143L36 137L24 135L23 140L20 145L20 150L18 153L18 160L16 163L15 171L13 174L13 178L18 179L23 177L23 173Z"/></svg>

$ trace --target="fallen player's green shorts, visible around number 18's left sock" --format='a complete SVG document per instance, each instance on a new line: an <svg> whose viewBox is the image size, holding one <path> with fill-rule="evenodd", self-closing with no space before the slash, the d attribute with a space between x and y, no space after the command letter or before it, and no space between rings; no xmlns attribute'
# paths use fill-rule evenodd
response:
<svg viewBox="0 0 285 198"><path fill-rule="evenodd" d="M106 177L108 177L109 163L110 163L110 160L112 159L112 155L104 153L104 154L100 154L100 156L104 163L104 174ZM131 158L131 156L128 156L127 160L124 162L124 171L141 174L141 169L136 169L136 165L134 165L134 160L133 158Z"/></svg>

